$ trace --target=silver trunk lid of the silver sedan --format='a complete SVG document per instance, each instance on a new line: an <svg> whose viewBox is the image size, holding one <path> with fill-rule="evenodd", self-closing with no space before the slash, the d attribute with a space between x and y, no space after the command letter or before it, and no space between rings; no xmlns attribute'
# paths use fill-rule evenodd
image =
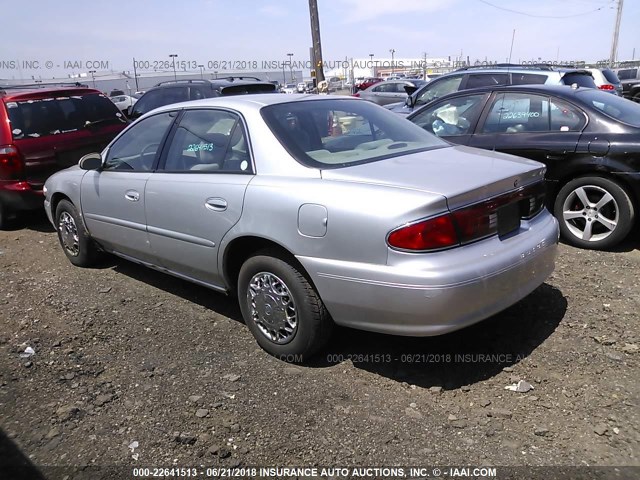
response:
<svg viewBox="0 0 640 480"><path fill-rule="evenodd" d="M322 178L419 190L468 205L542 180L533 160L464 146L438 148L353 167L322 171Z"/></svg>

